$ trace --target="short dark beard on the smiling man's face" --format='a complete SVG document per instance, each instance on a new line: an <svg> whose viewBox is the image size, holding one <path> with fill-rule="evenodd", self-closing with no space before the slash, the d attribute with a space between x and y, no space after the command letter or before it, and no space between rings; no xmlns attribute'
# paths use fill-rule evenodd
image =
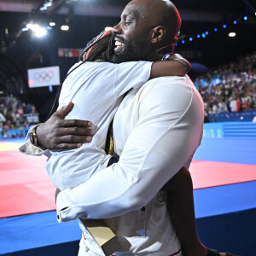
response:
<svg viewBox="0 0 256 256"><path fill-rule="evenodd" d="M124 49L119 54L113 53L111 56L113 63L148 60L148 44L145 39L140 37L128 41L122 38L122 41L125 43Z"/></svg>

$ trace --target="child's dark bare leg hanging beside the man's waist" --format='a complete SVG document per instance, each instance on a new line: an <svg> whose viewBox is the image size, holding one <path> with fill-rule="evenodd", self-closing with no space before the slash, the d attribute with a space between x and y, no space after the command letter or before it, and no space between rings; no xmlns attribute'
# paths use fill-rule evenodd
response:
<svg viewBox="0 0 256 256"><path fill-rule="evenodd" d="M167 207L184 256L207 255L197 236L193 184L184 167L166 184Z"/></svg>

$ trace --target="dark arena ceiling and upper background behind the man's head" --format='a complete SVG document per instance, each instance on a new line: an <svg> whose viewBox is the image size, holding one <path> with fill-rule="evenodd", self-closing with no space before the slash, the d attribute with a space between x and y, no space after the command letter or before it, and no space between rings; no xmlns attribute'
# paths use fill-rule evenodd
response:
<svg viewBox="0 0 256 256"><path fill-rule="evenodd" d="M84 48L105 26L119 22L127 3L126 0L54 0L52 7L40 11L44 4L41 0L0 0L0 90L3 96L13 94L25 102L33 102L44 120L59 86L53 86L52 92L49 87L29 89L27 68L60 66L62 81L78 59L58 57L58 48ZM183 19L176 51L190 62L214 68L256 49L254 0L174 0L173 3ZM243 19L245 15L247 20ZM31 32L21 32L30 20L43 25L53 20L56 26L44 38L34 38ZM233 20L237 20L236 25ZM64 23L70 26L68 32L60 29ZM214 32L214 28L218 28L218 32ZM206 38L196 38L202 32L209 34ZM230 38L229 32L236 32L236 37ZM197 74L196 70L189 73L192 79Z"/></svg>

